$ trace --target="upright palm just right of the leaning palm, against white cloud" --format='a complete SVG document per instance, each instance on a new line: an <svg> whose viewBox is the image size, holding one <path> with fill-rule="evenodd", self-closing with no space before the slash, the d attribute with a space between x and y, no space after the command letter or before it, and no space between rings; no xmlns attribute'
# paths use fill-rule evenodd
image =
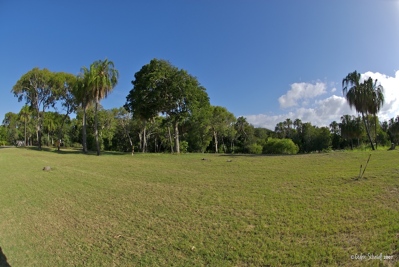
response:
<svg viewBox="0 0 399 267"><path fill-rule="evenodd" d="M372 96L369 103L369 112L374 115L377 149L377 113L380 112L381 107L384 105L384 87L381 84L377 85L377 79L373 82L372 77L364 81L364 86L367 87Z"/></svg>

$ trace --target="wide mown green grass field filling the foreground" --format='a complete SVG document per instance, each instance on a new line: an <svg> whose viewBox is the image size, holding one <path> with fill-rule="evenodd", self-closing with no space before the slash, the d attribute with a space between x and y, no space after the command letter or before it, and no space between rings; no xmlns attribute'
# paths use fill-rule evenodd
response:
<svg viewBox="0 0 399 267"><path fill-rule="evenodd" d="M0 266L399 265L398 150L2 148L0 168Z"/></svg>

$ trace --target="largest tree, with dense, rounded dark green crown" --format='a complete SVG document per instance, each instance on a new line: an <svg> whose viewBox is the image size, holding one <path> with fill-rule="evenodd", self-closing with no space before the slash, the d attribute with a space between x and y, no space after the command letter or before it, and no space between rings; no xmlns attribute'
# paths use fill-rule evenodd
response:
<svg viewBox="0 0 399 267"><path fill-rule="evenodd" d="M135 74L132 84L125 108L140 115L144 123L157 113L165 114L173 124L174 151L179 153L179 125L189 117L200 118L201 110L208 108L205 88L186 70L156 58Z"/></svg>

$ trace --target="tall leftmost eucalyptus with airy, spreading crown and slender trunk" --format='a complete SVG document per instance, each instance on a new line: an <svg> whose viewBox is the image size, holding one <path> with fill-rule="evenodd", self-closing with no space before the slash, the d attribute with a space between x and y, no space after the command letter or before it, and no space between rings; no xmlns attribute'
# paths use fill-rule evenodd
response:
<svg viewBox="0 0 399 267"><path fill-rule="evenodd" d="M59 74L46 68L39 69L34 67L23 74L11 90L14 96L18 97L18 102L24 100L26 105L36 111L39 150L41 150L42 114L47 108L54 107L56 100L59 98L59 90L64 85L62 79L59 79L57 75Z"/></svg>

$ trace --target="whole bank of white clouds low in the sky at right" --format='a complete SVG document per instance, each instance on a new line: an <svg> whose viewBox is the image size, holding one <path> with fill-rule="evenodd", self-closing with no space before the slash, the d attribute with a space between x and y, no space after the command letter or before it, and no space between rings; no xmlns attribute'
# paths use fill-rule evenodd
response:
<svg viewBox="0 0 399 267"><path fill-rule="evenodd" d="M380 121L389 120L399 115L399 71L395 77L390 77L381 73L366 72L362 74L362 79L372 77L377 79L384 87L385 104L378 114ZM334 90L335 89L335 90ZM336 91L334 87L332 92ZM280 107L298 106L298 100L303 100L302 104L309 102L309 99L326 92L326 84L318 82L315 85L310 83L294 83L287 94L279 98ZM300 95L303 93L303 95ZM343 96L332 95L322 100L316 100L311 106L298 107L292 112L280 115L244 115L247 121L255 127L264 127L274 130L277 123L287 118L292 120L299 118L302 122L311 122L312 125L319 127L328 126L332 121L339 122L341 116L345 114L357 115L356 110L351 110Z"/></svg>

